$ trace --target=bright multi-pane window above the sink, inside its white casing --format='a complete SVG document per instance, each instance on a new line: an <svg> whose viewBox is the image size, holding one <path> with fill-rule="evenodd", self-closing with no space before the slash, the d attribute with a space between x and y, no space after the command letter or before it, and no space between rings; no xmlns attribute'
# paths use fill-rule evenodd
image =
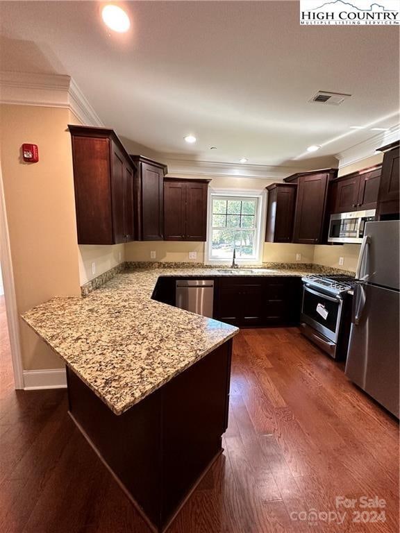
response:
<svg viewBox="0 0 400 533"><path fill-rule="evenodd" d="M231 262L233 250L240 262L260 260L261 194L211 193L208 260Z"/></svg>

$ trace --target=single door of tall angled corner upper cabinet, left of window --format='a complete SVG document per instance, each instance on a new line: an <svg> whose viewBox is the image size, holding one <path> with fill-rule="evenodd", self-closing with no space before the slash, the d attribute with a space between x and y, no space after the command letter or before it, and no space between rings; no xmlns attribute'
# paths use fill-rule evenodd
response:
<svg viewBox="0 0 400 533"><path fill-rule="evenodd" d="M164 238L164 172L152 164L140 163L142 185L142 235L144 241Z"/></svg>

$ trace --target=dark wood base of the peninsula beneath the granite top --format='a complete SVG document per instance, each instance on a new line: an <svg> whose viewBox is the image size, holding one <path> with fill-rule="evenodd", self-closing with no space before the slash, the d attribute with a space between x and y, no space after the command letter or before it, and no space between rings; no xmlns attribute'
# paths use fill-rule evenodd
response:
<svg viewBox="0 0 400 533"><path fill-rule="evenodd" d="M222 453L232 340L117 416L67 369L69 414L153 532Z"/></svg>

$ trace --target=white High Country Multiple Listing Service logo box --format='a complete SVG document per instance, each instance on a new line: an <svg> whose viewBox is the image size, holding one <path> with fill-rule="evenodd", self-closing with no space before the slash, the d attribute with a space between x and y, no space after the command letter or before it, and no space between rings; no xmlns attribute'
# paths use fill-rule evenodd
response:
<svg viewBox="0 0 400 533"><path fill-rule="evenodd" d="M379 0L300 0L300 24L367 26L399 25L399 1Z"/></svg>

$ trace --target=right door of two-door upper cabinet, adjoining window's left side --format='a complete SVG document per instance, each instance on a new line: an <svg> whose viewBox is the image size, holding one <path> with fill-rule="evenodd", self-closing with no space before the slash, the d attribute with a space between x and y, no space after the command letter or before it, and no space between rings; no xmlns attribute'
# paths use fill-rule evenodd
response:
<svg viewBox="0 0 400 533"><path fill-rule="evenodd" d="M207 183L185 183L185 240L206 241Z"/></svg>

